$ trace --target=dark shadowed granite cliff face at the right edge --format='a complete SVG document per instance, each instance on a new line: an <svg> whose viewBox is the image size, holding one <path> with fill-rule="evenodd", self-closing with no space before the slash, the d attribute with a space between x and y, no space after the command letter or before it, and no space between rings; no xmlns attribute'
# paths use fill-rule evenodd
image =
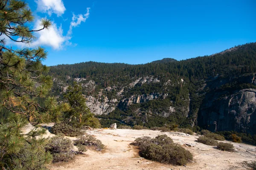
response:
<svg viewBox="0 0 256 170"><path fill-rule="evenodd" d="M256 134L256 89L235 91L220 97L225 92L209 94L198 113L198 125L216 130L235 130Z"/></svg>

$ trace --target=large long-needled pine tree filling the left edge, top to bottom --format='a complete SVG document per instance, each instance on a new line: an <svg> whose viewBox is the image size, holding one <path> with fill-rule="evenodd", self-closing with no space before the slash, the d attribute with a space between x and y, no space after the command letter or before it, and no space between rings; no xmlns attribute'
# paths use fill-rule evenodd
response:
<svg viewBox="0 0 256 170"><path fill-rule="evenodd" d="M8 111L9 119L0 121L0 167L3 170L40 170L52 159L45 152L45 139L38 136L45 130L38 123L57 119L69 105L58 105L54 97L47 97L52 86L48 68L42 65L47 57L44 48L13 49L6 39L17 43L31 43L34 32L48 29L50 20L41 20L40 30L31 30L34 17L23 0L0 1L0 109ZM39 100L45 101L44 106ZM26 134L22 127L28 122L34 128Z"/></svg>

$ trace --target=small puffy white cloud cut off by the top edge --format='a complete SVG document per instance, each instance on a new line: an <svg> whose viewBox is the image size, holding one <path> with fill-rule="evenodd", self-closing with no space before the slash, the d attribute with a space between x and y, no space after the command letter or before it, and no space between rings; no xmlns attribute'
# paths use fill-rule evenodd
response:
<svg viewBox="0 0 256 170"><path fill-rule="evenodd" d="M59 17L66 10L62 0L35 0L35 2L38 4L38 11L47 12L49 16L55 13Z"/></svg>

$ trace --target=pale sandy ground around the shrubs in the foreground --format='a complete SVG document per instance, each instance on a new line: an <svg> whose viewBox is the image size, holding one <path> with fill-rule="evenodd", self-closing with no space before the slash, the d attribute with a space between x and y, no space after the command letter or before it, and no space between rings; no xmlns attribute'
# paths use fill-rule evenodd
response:
<svg viewBox="0 0 256 170"><path fill-rule="evenodd" d="M29 126L26 130L28 129ZM185 133L130 129L95 129L88 130L87 133L101 140L105 144L105 149L97 151L88 148L87 152L77 155L75 159L51 164L49 168L51 170L246 170L247 167L242 162L256 160L255 146L229 142L234 145L236 150L230 153L198 143L196 142L198 136L188 136ZM179 143L189 150L193 154L194 160L186 167L161 164L140 157L138 149L130 145L138 137L155 137L160 134L168 135L175 143ZM47 131L46 136L54 135ZM187 143L195 144L195 146L186 146Z"/></svg>

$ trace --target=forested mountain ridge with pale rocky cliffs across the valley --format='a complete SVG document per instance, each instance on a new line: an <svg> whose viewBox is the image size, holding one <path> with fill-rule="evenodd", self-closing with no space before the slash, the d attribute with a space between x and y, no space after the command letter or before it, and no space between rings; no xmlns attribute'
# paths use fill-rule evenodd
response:
<svg viewBox="0 0 256 170"><path fill-rule="evenodd" d="M160 60L161 61L161 60ZM50 67L52 93L62 99L81 83L103 125L181 127L256 132L256 43L211 56L140 65L82 62Z"/></svg>

